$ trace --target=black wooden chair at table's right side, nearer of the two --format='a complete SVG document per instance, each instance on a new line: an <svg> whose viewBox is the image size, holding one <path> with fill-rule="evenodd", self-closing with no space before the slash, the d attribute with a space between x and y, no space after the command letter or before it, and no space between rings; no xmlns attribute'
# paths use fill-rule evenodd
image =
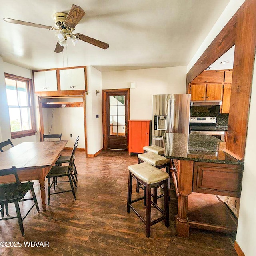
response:
<svg viewBox="0 0 256 256"><path fill-rule="evenodd" d="M52 166L50 172L46 176L46 178L48 178L48 189L47 189L48 205L50 205L50 195L60 194L64 192L72 191L74 200L76 200L76 194L73 186L73 182L74 182L74 185L76 186L76 181L73 176L73 171L74 171L74 160L75 160L75 152L76 152L77 145L78 145L78 142L76 142L76 144L74 145L68 166L54 165ZM68 177L68 181L57 181L57 178L66 177L66 176ZM50 178L53 178L52 183L50 183ZM55 190L56 183L60 183L60 182L70 182L71 190L50 193L50 189L52 185L54 186L53 188Z"/></svg>

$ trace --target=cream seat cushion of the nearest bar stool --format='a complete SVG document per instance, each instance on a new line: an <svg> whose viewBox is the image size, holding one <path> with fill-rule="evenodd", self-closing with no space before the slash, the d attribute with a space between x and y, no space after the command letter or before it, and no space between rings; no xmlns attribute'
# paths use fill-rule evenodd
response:
<svg viewBox="0 0 256 256"><path fill-rule="evenodd" d="M148 163L134 164L128 170L146 184L153 184L168 179L169 174Z"/></svg>

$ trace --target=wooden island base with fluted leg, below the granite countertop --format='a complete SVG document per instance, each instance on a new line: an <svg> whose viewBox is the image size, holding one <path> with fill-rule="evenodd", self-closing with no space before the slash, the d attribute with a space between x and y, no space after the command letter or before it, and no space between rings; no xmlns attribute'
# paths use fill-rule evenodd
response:
<svg viewBox="0 0 256 256"><path fill-rule="evenodd" d="M172 177L178 197L176 235L189 228L233 233L237 220L218 196L240 197L243 165L173 160Z"/></svg>

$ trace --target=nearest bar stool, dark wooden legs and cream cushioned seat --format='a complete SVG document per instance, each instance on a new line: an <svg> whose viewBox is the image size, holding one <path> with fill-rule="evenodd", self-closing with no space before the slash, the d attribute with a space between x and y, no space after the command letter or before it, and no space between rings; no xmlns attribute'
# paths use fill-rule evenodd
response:
<svg viewBox="0 0 256 256"><path fill-rule="evenodd" d="M168 173L159 170L158 168L148 164L134 164L128 167L129 181L128 181L128 196L127 196L127 212L130 213L132 209L135 214L146 225L146 237L150 237L150 228L152 225L164 220L166 227L169 226L169 204L168 204ZM140 182L144 186L144 196L132 200L132 178ZM154 202L151 201L151 188L157 188L164 185L164 210L159 208ZM133 203L146 199L146 220L137 212L132 206ZM151 204L160 211L163 216L151 221Z"/></svg>

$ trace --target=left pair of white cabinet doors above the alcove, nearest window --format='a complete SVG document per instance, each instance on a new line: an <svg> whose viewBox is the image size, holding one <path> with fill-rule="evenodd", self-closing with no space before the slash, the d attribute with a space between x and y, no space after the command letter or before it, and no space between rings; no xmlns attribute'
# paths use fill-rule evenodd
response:
<svg viewBox="0 0 256 256"><path fill-rule="evenodd" d="M35 92L57 91L56 70L34 72Z"/></svg>

